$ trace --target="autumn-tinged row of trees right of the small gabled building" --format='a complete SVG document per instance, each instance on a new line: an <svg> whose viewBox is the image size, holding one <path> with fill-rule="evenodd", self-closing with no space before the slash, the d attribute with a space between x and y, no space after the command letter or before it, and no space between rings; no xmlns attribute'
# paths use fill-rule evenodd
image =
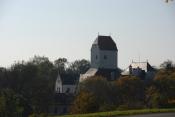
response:
<svg viewBox="0 0 175 117"><path fill-rule="evenodd" d="M175 107L175 65L165 61L153 79L129 75L116 81L94 76L81 82L70 113Z"/></svg>

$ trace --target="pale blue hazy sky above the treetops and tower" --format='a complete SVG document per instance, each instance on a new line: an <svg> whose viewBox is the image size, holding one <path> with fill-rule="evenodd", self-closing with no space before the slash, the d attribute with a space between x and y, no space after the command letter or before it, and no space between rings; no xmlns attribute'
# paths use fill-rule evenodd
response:
<svg viewBox="0 0 175 117"><path fill-rule="evenodd" d="M0 67L34 55L90 60L98 34L116 42L122 69L175 61L175 1L0 0Z"/></svg>

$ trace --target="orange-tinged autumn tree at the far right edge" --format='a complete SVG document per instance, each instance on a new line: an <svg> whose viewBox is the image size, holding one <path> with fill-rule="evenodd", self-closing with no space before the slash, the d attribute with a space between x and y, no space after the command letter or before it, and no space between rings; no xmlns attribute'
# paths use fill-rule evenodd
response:
<svg viewBox="0 0 175 117"><path fill-rule="evenodd" d="M175 68L158 70L153 84L147 89L149 107L175 107Z"/></svg>

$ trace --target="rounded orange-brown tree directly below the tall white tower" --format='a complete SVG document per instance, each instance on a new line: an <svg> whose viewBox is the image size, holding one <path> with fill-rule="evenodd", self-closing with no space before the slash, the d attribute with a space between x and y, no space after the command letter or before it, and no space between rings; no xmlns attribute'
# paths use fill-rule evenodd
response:
<svg viewBox="0 0 175 117"><path fill-rule="evenodd" d="M86 92L85 94L83 92ZM93 97L91 101L85 101L91 96ZM81 99L82 98L82 99ZM94 107L91 110L85 108L83 112L95 112L95 111L107 111L113 110L117 106L117 92L115 84L108 82L105 78L100 76L90 77L80 83L79 93L75 98L74 105L72 108L82 107L85 103L87 107ZM81 102L81 103L80 103ZM80 113L81 111L77 111Z"/></svg>

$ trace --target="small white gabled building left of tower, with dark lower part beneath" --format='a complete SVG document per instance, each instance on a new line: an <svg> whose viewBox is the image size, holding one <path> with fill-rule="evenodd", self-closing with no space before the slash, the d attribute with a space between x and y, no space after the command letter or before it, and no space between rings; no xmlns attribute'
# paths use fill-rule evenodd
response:
<svg viewBox="0 0 175 117"><path fill-rule="evenodd" d="M50 106L50 114L67 114L77 91L78 78L68 74L59 74L55 82L54 103Z"/></svg>

